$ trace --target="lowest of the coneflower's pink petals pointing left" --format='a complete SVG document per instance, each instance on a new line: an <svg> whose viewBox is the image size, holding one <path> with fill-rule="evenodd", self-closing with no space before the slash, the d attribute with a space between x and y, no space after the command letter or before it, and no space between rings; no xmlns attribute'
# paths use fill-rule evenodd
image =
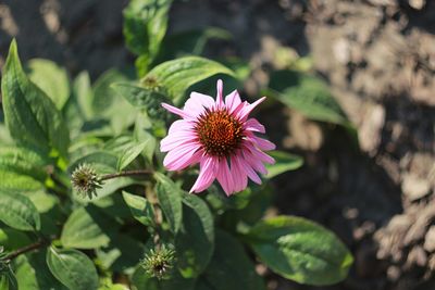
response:
<svg viewBox="0 0 435 290"><path fill-rule="evenodd" d="M199 162L202 150L197 143L186 143L171 150L163 160L163 165L169 171L181 171Z"/></svg>

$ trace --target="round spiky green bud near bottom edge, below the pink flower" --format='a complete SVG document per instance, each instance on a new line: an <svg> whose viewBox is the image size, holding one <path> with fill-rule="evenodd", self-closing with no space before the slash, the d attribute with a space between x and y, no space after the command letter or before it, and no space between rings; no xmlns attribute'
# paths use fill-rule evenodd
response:
<svg viewBox="0 0 435 290"><path fill-rule="evenodd" d="M170 245L151 249L140 261L148 275L159 280L171 277L175 264L175 251Z"/></svg>

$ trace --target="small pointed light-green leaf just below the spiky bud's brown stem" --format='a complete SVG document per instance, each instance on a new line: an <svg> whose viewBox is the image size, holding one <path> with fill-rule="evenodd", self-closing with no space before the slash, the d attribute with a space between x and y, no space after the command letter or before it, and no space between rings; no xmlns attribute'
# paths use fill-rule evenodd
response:
<svg viewBox="0 0 435 290"><path fill-rule="evenodd" d="M123 198L133 216L145 226L154 225L154 210L145 198L123 191Z"/></svg>

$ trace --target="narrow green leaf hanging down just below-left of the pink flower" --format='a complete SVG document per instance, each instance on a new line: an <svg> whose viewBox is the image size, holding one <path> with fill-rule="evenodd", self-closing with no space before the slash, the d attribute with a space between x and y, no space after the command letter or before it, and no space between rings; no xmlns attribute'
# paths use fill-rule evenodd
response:
<svg viewBox="0 0 435 290"><path fill-rule="evenodd" d="M183 191L165 175L156 173L154 177L158 180L156 191L159 204L170 224L171 231L176 234L182 225Z"/></svg>

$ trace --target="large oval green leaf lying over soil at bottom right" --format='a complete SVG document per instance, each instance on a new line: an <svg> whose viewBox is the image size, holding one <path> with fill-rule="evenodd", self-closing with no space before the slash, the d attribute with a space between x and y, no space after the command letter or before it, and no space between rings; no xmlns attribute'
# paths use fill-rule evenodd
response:
<svg viewBox="0 0 435 290"><path fill-rule="evenodd" d="M352 255L324 227L295 216L257 224L247 241L260 260L283 277L307 285L333 285L346 278Z"/></svg>

